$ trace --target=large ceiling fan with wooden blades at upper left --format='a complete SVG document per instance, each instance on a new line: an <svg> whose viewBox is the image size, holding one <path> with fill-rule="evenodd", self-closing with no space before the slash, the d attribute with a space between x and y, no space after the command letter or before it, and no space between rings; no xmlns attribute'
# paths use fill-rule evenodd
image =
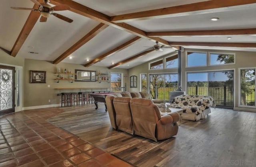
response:
<svg viewBox="0 0 256 167"><path fill-rule="evenodd" d="M66 16L62 16L60 14L54 13L54 11L61 11L61 10L70 10L71 8L67 5L58 5L58 6L50 6L48 3L50 0L44 0L44 3L40 4L37 0L31 0L35 4L38 5L37 9L34 8L19 8L19 7L11 7L12 9L21 9L21 10L33 10L38 11L41 14L40 22L46 22L47 18L50 17L50 15L56 16L57 18L64 20L66 22L73 22L72 19L67 18Z"/></svg>

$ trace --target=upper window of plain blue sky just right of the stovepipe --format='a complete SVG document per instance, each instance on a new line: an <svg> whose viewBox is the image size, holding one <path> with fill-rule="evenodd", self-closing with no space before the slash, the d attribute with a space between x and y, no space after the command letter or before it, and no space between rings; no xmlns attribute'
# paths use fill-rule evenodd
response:
<svg viewBox="0 0 256 167"><path fill-rule="evenodd" d="M206 66L206 60L206 52L187 52L187 67Z"/></svg>

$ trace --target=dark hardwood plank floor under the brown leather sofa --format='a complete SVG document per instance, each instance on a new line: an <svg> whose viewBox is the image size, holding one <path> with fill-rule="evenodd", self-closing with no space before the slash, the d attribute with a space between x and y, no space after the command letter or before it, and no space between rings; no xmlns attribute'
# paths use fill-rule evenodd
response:
<svg viewBox="0 0 256 167"><path fill-rule="evenodd" d="M104 105L63 108L48 119L138 167L256 166L256 113L212 108L208 118L182 120L178 134L155 142L113 130Z"/></svg>

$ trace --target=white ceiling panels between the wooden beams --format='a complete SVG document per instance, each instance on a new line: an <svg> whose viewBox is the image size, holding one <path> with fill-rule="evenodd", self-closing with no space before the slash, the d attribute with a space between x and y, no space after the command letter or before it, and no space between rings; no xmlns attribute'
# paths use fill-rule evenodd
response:
<svg viewBox="0 0 256 167"><path fill-rule="evenodd" d="M68 0L67 0L68 1ZM116 16L145 10L166 8L202 2L205 0L73 0L84 6L92 8L108 16ZM50 4L51 6L54 6ZM14 10L10 7L32 8L34 3L30 0L0 0L0 48L11 51L15 41L22 30L30 10ZM72 11L56 11L74 20L72 23L64 22L50 16L47 22L36 22L26 41L18 51L16 57L54 61L67 49L72 47L79 39L95 28L100 22ZM256 28L256 3L216 10L204 10L182 14L173 14L169 18L150 19L126 22L146 32L154 31L190 31L190 30L216 30L216 29L243 29ZM218 17L220 20L213 22L210 18ZM119 45L133 39L136 35L121 29L108 26L82 47L74 51L69 57L62 60L65 63L86 64L115 49ZM256 35L186 35L186 36L159 36L170 42L216 42L216 43L255 43ZM232 37L227 40L227 37ZM130 57L142 53L155 45L148 39L139 39L129 47L118 51L94 65L110 67ZM184 46L192 49L219 49L230 51L256 51L252 47L206 47ZM32 54L28 52L36 52ZM164 51L153 51L120 65L118 68L129 69L157 57L174 52L174 49L165 48ZM129 66L128 66L129 65Z"/></svg>

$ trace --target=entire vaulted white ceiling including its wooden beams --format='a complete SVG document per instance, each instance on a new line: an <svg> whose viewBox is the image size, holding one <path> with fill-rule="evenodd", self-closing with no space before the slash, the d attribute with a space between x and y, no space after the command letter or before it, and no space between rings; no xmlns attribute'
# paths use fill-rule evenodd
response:
<svg viewBox="0 0 256 167"><path fill-rule="evenodd" d="M10 8L38 8L33 1L0 0L0 48L10 56L129 69L180 47L256 51L256 0L50 0L70 6L55 13L72 23ZM167 48L154 50L156 41Z"/></svg>

